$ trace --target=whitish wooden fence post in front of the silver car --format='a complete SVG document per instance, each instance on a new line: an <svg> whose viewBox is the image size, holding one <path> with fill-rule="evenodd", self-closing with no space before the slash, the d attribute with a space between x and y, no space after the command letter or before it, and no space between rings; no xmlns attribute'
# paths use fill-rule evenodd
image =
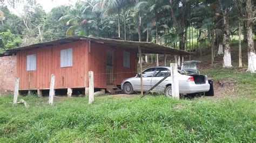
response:
<svg viewBox="0 0 256 143"><path fill-rule="evenodd" d="M171 63L171 76L172 76L172 97L179 99L179 80L178 80L178 65Z"/></svg>

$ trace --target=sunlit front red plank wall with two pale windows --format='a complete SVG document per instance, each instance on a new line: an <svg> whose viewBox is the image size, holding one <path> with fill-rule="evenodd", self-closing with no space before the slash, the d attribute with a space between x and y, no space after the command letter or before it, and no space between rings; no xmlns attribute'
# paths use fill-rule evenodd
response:
<svg viewBox="0 0 256 143"><path fill-rule="evenodd" d="M72 48L73 66L60 68L60 50L65 48ZM48 89L51 74L56 76L56 89L84 87L85 52L85 41L17 52L19 89ZM35 71L26 71L26 55L30 54L37 56L37 69Z"/></svg>

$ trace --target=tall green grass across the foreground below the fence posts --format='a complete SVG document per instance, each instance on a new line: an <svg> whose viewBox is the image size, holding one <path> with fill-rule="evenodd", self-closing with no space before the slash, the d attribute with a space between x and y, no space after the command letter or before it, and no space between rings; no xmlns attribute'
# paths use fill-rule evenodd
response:
<svg viewBox="0 0 256 143"><path fill-rule="evenodd" d="M75 97L47 104L46 97L0 98L0 142L255 142L251 98L180 100L164 96Z"/></svg>

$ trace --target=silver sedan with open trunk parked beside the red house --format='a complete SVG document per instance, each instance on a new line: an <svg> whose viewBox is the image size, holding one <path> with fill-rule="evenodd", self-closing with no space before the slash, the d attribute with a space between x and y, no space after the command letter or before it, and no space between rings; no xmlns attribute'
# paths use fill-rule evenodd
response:
<svg viewBox="0 0 256 143"><path fill-rule="evenodd" d="M157 82L163 79L171 72L170 67L151 67L142 72L143 76L143 91L148 91ZM127 78L121 84L122 90L126 94L133 94L134 91L140 91L140 74L135 77ZM179 93L194 94L197 92L207 92L210 90L206 75L184 75L178 72ZM161 82L152 92L164 93L167 96L172 96L172 78L171 75Z"/></svg>

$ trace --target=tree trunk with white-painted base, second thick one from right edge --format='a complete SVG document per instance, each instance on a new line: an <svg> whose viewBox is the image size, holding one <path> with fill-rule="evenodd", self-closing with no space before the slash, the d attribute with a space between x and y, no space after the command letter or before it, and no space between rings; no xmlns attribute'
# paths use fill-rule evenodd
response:
<svg viewBox="0 0 256 143"><path fill-rule="evenodd" d="M230 52L230 25L227 19L227 9L223 12L223 20L224 20L224 57L223 57L223 67L230 68L231 64L231 52Z"/></svg>

